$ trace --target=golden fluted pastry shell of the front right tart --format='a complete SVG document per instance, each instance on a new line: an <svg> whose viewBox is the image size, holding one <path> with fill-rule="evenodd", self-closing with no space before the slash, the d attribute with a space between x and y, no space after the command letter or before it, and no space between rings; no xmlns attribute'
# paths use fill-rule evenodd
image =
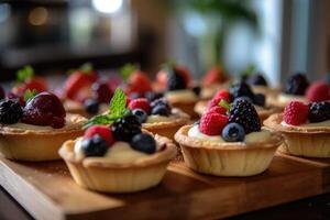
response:
<svg viewBox="0 0 330 220"><path fill-rule="evenodd" d="M191 169L215 176L252 176L271 164L282 136L272 133L267 142L210 142L188 136L191 125L183 127L175 140L180 144L185 163Z"/></svg>

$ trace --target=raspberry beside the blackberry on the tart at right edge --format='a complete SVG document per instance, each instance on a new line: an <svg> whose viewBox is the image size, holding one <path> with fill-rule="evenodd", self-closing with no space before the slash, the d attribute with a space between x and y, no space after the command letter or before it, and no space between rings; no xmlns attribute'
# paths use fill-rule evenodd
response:
<svg viewBox="0 0 330 220"><path fill-rule="evenodd" d="M283 120L293 125L299 125L306 122L309 108L300 101L292 101L284 109Z"/></svg>

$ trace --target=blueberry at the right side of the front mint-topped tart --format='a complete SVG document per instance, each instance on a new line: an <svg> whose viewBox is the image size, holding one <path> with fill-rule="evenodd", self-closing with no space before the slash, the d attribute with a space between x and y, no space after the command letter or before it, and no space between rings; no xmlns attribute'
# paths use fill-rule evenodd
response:
<svg viewBox="0 0 330 220"><path fill-rule="evenodd" d="M156 142L150 134L136 134L131 141L132 148L144 152L146 154L153 154L156 151Z"/></svg>

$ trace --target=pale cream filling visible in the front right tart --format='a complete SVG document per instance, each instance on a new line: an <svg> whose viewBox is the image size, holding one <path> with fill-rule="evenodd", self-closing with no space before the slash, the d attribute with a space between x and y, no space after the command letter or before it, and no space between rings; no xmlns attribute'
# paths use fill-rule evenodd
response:
<svg viewBox="0 0 330 220"><path fill-rule="evenodd" d="M194 125L191 129L189 129L188 136L199 139L202 141L219 142L219 143L226 142L221 138L220 134L219 135L207 135L207 134L201 133L198 129L198 125ZM246 134L244 136L244 142L245 143L258 143L258 142L265 142L271 139L272 139L271 132L267 130L262 130L260 132L251 132L251 133Z"/></svg>

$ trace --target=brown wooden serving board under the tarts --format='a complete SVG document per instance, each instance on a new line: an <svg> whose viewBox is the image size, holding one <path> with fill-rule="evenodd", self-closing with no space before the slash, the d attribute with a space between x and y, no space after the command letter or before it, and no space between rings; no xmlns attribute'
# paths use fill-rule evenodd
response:
<svg viewBox="0 0 330 220"><path fill-rule="evenodd" d="M63 162L0 158L0 184L36 219L216 219L330 191L330 160L277 154L268 170L224 178L172 163L162 184L127 194L77 186Z"/></svg>

